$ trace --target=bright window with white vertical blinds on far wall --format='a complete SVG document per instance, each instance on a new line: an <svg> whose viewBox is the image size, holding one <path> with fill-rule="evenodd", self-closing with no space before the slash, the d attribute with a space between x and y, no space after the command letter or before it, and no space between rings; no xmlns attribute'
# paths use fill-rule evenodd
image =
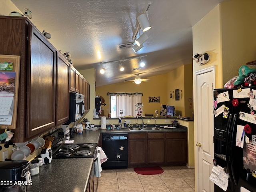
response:
<svg viewBox="0 0 256 192"><path fill-rule="evenodd" d="M136 116L135 105L141 100L142 94L110 94L111 117L120 117L120 110L123 110L122 116Z"/></svg>

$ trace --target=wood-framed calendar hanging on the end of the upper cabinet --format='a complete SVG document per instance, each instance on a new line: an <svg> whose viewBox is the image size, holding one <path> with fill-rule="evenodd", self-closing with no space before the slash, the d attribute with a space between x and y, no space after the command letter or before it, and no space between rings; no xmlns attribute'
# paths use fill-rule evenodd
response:
<svg viewBox="0 0 256 192"><path fill-rule="evenodd" d="M16 128L20 56L0 55L0 125L2 129ZM6 126L4 126L6 125Z"/></svg>

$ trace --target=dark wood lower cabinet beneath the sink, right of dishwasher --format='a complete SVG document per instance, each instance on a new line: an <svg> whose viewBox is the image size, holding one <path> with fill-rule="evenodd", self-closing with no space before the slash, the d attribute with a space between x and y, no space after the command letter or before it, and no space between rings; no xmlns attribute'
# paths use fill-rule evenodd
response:
<svg viewBox="0 0 256 192"><path fill-rule="evenodd" d="M186 165L187 132L129 134L129 166Z"/></svg>

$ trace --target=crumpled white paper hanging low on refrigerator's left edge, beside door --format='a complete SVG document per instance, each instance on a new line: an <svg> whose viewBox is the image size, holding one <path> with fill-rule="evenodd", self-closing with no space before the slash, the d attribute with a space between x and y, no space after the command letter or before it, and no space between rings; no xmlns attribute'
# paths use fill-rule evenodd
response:
<svg viewBox="0 0 256 192"><path fill-rule="evenodd" d="M213 166L212 174L209 179L218 185L222 190L226 191L228 188L228 174L224 172L221 166Z"/></svg>

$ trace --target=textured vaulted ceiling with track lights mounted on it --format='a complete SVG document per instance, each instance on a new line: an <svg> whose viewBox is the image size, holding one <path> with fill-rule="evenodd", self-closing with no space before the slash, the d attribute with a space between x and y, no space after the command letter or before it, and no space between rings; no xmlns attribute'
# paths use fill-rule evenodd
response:
<svg viewBox="0 0 256 192"><path fill-rule="evenodd" d="M72 55L77 70L96 68L96 86L134 79L136 74L147 78L191 64L192 26L223 1L12 0L22 12L25 7L32 11L34 25L52 35L49 41L56 49ZM144 13L148 2L152 28L145 32L148 40L144 47L137 53L132 48L119 50L119 44L132 41L136 18ZM123 72L119 62L110 62L144 55L146 66L140 70L132 71L138 67L139 58L122 62ZM103 75L100 62L106 69Z"/></svg>

